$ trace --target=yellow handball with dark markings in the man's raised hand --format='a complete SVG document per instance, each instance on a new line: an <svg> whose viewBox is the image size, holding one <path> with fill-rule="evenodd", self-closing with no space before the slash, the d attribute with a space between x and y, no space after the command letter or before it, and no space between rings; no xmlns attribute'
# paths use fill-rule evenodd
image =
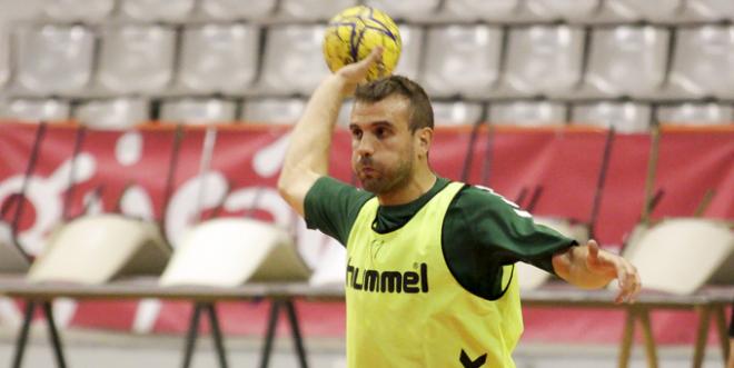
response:
<svg viewBox="0 0 734 368"><path fill-rule="evenodd" d="M400 59L400 31L393 19L375 8L358 6L336 14L324 34L324 58L334 72L366 58L383 47L383 60L373 66L367 80L389 76Z"/></svg>

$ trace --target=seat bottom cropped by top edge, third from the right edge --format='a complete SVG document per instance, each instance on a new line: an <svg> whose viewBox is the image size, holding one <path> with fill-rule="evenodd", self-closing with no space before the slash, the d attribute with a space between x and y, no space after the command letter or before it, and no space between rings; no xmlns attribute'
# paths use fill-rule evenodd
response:
<svg viewBox="0 0 734 368"><path fill-rule="evenodd" d="M527 0L525 7L538 19L588 21L601 7L599 0Z"/></svg>

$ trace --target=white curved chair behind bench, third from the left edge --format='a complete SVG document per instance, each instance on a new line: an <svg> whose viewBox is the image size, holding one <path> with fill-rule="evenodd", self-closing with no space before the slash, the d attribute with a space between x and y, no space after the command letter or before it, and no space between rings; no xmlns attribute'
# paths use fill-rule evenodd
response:
<svg viewBox="0 0 734 368"><path fill-rule="evenodd" d="M257 220L222 218L185 235L160 285L235 287L250 281L306 281L309 276L285 230Z"/></svg>

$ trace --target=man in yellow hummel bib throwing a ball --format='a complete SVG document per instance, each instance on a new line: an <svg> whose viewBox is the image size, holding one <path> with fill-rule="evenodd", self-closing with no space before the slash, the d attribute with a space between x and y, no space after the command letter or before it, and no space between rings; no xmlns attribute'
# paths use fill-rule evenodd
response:
<svg viewBox="0 0 734 368"><path fill-rule="evenodd" d="M357 87L380 52L316 89L278 181L310 228L347 248L349 367L514 367L523 330L516 261L583 288L616 278L617 301L634 298L639 278L623 258L535 225L492 190L436 177L423 89L403 77ZM327 176L335 121L351 93L351 165L364 191Z"/></svg>

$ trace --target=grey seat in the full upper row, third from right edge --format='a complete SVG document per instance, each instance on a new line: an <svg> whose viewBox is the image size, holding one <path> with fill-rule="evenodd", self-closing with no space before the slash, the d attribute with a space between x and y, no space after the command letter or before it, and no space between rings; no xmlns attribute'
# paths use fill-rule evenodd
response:
<svg viewBox="0 0 734 368"><path fill-rule="evenodd" d="M503 87L520 96L564 95L581 81L583 30L533 26L510 31Z"/></svg>

